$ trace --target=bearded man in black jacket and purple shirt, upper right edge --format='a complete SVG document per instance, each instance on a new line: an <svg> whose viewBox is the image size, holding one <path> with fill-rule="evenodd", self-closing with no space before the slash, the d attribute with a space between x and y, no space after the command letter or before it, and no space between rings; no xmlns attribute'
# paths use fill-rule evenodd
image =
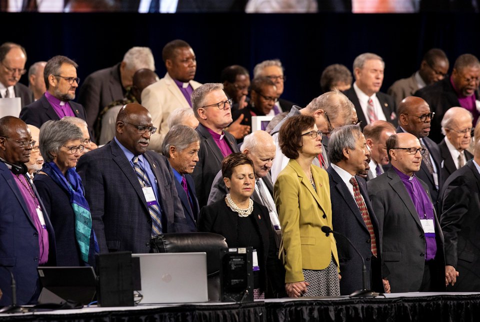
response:
<svg viewBox="0 0 480 322"><path fill-rule="evenodd" d="M480 84L480 62L471 54L459 56L453 65L451 76L418 90L414 95L424 99L435 112L431 122L430 138L436 143L443 139L441 120L450 107L462 107L473 116L473 124L480 115L478 85Z"/></svg>

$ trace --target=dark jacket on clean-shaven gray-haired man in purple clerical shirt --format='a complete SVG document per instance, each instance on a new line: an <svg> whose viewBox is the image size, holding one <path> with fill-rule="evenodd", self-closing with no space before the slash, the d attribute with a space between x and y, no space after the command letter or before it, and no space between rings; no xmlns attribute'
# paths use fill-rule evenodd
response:
<svg viewBox="0 0 480 322"><path fill-rule="evenodd" d="M198 124L196 132L200 136L200 151L198 152L199 161L196 163L192 177L193 181L195 181L196 197L198 198L198 205L201 209L208 201L211 183L218 170L221 169L223 155L216 145L215 140L213 140L208 130L201 123ZM226 131L223 133L225 135L224 140L231 151L240 152L236 146L236 140L233 135Z"/></svg>

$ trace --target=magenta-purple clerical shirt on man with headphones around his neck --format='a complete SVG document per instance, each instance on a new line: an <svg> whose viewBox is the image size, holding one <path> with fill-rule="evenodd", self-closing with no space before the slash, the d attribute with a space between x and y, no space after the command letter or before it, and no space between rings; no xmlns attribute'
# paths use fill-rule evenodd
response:
<svg viewBox="0 0 480 322"><path fill-rule="evenodd" d="M24 175L14 175L12 173L12 177L15 180L16 186L18 190L20 190L21 196L26 204L26 209L28 210L28 214L30 215L31 221L35 225L36 231L38 232L38 264L44 264L48 261L48 230L44 222L40 221L40 217L38 211L41 212L40 203L36 198L35 194L33 193L33 189L31 188L28 180L25 178ZM42 213L43 216L47 216L46 213ZM41 220L44 220L43 217Z"/></svg>

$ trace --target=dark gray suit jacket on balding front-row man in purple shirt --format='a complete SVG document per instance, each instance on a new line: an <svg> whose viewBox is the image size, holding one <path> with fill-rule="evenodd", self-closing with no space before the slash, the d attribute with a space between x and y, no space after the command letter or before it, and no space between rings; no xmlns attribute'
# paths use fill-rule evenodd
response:
<svg viewBox="0 0 480 322"><path fill-rule="evenodd" d="M420 180L428 196L426 184ZM418 213L400 177L393 168L367 182L378 224L383 232L382 257L389 270L391 292L418 291L425 266L425 238ZM430 198L431 200L431 198ZM445 289L443 234L435 216L437 251L431 272L431 291Z"/></svg>

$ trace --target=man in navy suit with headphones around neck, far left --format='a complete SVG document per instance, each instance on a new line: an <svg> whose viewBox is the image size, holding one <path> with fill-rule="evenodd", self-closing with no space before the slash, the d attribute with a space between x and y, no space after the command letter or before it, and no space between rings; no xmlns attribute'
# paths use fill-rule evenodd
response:
<svg viewBox="0 0 480 322"><path fill-rule="evenodd" d="M55 265L55 236L35 186L27 178L30 131L13 116L0 119L0 305L12 304L11 276L16 303L36 303L40 293L38 265Z"/></svg>

